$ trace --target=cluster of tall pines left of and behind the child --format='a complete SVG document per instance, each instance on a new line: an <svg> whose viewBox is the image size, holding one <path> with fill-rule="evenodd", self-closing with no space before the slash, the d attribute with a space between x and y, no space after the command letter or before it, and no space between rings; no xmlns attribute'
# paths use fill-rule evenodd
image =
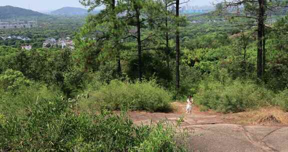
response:
<svg viewBox="0 0 288 152"><path fill-rule="evenodd" d="M103 51L82 51L85 56L95 58L99 53L117 59L117 72L121 75L121 51L134 45L137 51L137 77L146 73L143 61L146 51L156 50L165 54L166 67L170 67L170 56L175 50L175 87L179 85L180 25L184 18L179 16L180 0L81 0L90 10L99 5L105 9L98 15L89 16L76 38L78 45L96 43L95 48ZM172 8L175 8L173 10ZM97 31L103 34L98 36ZM81 37L85 37L81 39ZM134 43L135 42L135 43ZM133 46L132 46L133 47ZM81 49L81 48L80 48ZM83 49L87 49L83 46ZM89 54L90 53L90 54ZM95 56L96 55L96 56ZM89 69L89 58L82 58L83 68ZM94 68L94 67L93 67Z"/></svg>

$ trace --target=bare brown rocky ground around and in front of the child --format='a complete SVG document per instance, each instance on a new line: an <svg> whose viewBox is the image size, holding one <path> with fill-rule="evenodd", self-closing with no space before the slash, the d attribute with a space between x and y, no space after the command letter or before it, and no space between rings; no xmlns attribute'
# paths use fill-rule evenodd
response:
<svg viewBox="0 0 288 152"><path fill-rule="evenodd" d="M192 114L184 114L184 104L174 102L172 105L175 112L133 111L130 116L135 124L149 124L161 119L175 121L183 116L181 128L186 128L189 132L189 151L288 152L288 126L229 124L221 113L200 112L197 107L193 107Z"/></svg>

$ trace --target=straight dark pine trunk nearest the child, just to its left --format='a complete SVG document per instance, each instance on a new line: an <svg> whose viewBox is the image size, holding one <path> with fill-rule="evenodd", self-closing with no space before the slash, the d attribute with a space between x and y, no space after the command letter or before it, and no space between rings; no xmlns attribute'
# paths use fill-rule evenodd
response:
<svg viewBox="0 0 288 152"><path fill-rule="evenodd" d="M176 89L180 88L180 39L179 39L179 0L176 0Z"/></svg>

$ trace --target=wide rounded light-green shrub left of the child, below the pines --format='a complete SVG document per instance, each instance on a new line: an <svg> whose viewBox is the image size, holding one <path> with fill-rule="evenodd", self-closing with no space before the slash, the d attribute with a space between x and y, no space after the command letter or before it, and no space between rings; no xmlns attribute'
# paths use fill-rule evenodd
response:
<svg viewBox="0 0 288 152"><path fill-rule="evenodd" d="M169 92L159 87L155 82L121 82L112 80L91 92L85 104L103 105L115 110L129 107L132 110L166 111L169 110ZM79 103L81 104L81 103Z"/></svg>

